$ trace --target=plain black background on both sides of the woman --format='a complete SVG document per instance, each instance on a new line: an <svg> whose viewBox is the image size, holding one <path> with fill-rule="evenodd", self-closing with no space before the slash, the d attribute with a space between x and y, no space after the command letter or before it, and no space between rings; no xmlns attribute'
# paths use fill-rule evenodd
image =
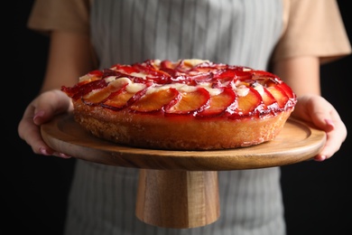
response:
<svg viewBox="0 0 352 235"><path fill-rule="evenodd" d="M34 155L17 135L23 110L40 89L49 46L48 38L26 28L32 2L12 1L3 8L12 17L3 19L1 33L0 104L5 131L1 141L0 233L60 235L75 160ZM347 2L339 0L338 5L351 40ZM338 109L349 132L351 67L352 57L347 56L321 68L322 94ZM351 230L351 152L352 141L347 136L339 152L328 161L282 167L288 235L347 234Z"/></svg>

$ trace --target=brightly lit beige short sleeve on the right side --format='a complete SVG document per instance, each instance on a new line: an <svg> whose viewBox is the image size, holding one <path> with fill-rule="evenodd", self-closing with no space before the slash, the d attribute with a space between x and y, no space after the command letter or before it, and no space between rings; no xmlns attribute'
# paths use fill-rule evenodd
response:
<svg viewBox="0 0 352 235"><path fill-rule="evenodd" d="M273 52L273 62L307 55L327 62L351 53L335 0L286 0L284 9L285 27Z"/></svg>

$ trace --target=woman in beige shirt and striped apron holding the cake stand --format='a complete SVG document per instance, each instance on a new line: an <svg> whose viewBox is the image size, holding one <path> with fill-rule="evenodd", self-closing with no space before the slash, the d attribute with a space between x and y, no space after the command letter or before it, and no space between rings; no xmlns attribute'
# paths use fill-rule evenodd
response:
<svg viewBox="0 0 352 235"><path fill-rule="evenodd" d="M334 155L347 136L337 110L320 96L320 63L351 52L334 0L38 0L29 26L51 36L42 92L19 124L19 135L36 154L69 157L47 146L39 131L72 109L62 85L97 68L146 59L200 58L270 69L298 95L292 116L327 133L315 160ZM219 172L219 220L189 230L135 218L137 173L78 160L66 234L285 234L279 167Z"/></svg>

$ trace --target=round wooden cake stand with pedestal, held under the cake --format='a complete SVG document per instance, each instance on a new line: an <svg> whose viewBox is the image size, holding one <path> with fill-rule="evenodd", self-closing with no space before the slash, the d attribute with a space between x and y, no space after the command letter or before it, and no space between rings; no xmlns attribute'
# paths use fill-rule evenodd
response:
<svg viewBox="0 0 352 235"><path fill-rule="evenodd" d="M194 228L218 220L218 171L295 164L320 152L325 132L289 118L273 141L215 151L169 151L119 146L91 136L71 114L42 125L59 152L98 163L140 169L136 217L165 228Z"/></svg>

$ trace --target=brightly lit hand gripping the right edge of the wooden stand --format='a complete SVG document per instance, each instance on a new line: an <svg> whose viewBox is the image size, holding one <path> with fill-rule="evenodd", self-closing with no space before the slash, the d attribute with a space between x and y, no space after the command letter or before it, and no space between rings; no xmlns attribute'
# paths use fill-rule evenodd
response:
<svg viewBox="0 0 352 235"><path fill-rule="evenodd" d="M338 111L328 100L319 95L301 96L292 117L299 118L326 132L326 144L320 154L314 157L316 161L324 161L338 152L347 137L347 127L339 117Z"/></svg>

